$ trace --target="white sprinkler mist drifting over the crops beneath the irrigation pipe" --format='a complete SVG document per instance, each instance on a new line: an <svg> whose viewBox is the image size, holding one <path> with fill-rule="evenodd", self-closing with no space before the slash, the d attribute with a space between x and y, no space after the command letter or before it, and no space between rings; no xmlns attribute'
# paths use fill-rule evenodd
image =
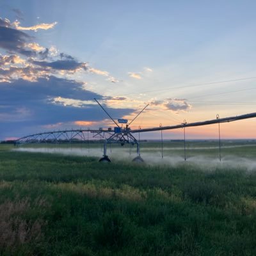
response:
<svg viewBox="0 0 256 256"><path fill-rule="evenodd" d="M229 147L229 146L228 146ZM240 146L234 146L240 147ZM189 148L189 150L196 149L212 149L215 147L198 147L198 148ZM170 148L164 148L164 150L170 150ZM232 154L223 155L220 158L218 157L218 150L212 156L205 156L198 152L198 156L187 156L186 161L184 161L184 155L182 150L184 148L171 148L172 150L177 150L175 154L173 152L164 152L164 157L161 156L161 148L159 147L143 147L141 150L141 157L148 165L156 166L193 166L194 168L200 168L202 170L213 170L216 168L223 169L244 169L248 171L256 170L256 159L249 157L241 157ZM90 157L102 157L103 150L102 148L84 148L84 147L20 147L15 150L24 151L24 152L40 152L40 153L50 153L50 154L64 154L67 156L90 156ZM129 163L134 157L136 157L136 147L133 147L130 152L130 148L115 147L108 148L107 155L111 161L125 161Z"/></svg>

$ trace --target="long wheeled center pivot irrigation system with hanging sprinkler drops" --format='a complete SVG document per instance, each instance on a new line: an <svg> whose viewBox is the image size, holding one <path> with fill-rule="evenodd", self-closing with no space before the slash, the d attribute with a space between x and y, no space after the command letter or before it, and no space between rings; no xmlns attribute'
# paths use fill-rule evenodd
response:
<svg viewBox="0 0 256 256"><path fill-rule="evenodd" d="M137 147L137 156L132 159L132 161L143 162L143 159L140 156L140 140L136 140L133 134L140 132L152 132L152 131L161 131L164 130L173 130L173 129L184 129L184 152L185 152L185 160L186 160L186 140L185 140L185 129L186 127L196 127L196 126L204 126L210 124L219 124L219 141L220 141L220 124L233 122L237 120L244 120L248 118L256 117L256 113L250 113L246 115L239 116L230 116L226 118L220 118L219 115L216 116L216 119L207 120L202 122L194 122L187 123L186 120L182 124L172 125L172 126L162 126L146 128L146 129L134 129L132 130L129 126L134 122L134 120L148 107L145 106L141 111L136 115L129 124L127 119L118 119L117 122L111 115L106 111L105 108L99 103L97 99L94 99L97 104L99 104L100 108L109 116L109 118L116 125L114 129L76 129L76 130L65 130L65 131L52 131L52 132L40 132L36 134L32 134L29 136L25 136L16 140L16 143L47 143L47 141L51 141L51 143L63 143L63 142L72 142L72 140L79 138L81 141L86 141L86 132L87 132L87 140L89 142L89 132L93 133L93 138L100 138L104 140L104 150L103 156L100 158L100 162L110 162L110 159L107 155L107 145L111 143L120 143L120 145L124 146L125 144L136 145ZM119 124L125 124L125 127L120 126ZM162 157L163 157L163 136L162 138ZM221 154L220 154L221 160Z"/></svg>

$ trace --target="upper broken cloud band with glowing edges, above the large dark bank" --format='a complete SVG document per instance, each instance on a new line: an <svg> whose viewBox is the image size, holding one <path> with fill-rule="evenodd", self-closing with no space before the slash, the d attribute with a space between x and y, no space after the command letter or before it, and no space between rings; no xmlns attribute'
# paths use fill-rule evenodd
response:
<svg viewBox="0 0 256 256"><path fill-rule="evenodd" d="M12 55L15 52L29 58L26 62L26 69L23 71L21 67L12 67L9 70L2 68L0 74L2 76L5 75L6 77L0 77L1 81L8 81L11 76L12 78L15 77L17 79L19 78L19 74L22 79L35 81L36 75L45 76L47 72L49 75L57 73L63 75L64 71L68 72L68 74L74 74L75 72L84 70L93 74L105 76L106 80L111 83L119 82L118 79L110 76L109 72L89 67L88 63L79 62L73 56L65 54L64 52L59 54L56 47L45 48L36 42L33 42L34 38L32 36L19 30L36 31L36 29L41 28L41 25L42 28L47 29L52 28L55 24L56 22L23 28L19 26L18 21L11 23L8 19L0 18L0 48L5 49L8 53L12 53ZM24 72L28 72L28 76L26 76Z"/></svg>

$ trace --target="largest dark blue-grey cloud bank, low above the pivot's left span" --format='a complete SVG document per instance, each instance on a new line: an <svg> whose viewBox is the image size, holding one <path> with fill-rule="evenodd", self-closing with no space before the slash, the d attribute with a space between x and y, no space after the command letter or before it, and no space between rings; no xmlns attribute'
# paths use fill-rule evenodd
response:
<svg viewBox="0 0 256 256"><path fill-rule="evenodd" d="M98 93L83 89L83 83L61 79L54 76L29 82L22 79L11 83L0 83L0 122L1 138L23 136L28 130L36 132L35 127L77 120L100 121L106 119L105 113L96 104L88 103L77 108L54 104L54 97L77 100L104 99ZM134 109L112 109L113 116L129 115ZM4 128L6 127L6 128ZM29 129L24 129L28 127ZM34 130L33 130L34 127ZM6 130L8 128L8 130Z"/></svg>

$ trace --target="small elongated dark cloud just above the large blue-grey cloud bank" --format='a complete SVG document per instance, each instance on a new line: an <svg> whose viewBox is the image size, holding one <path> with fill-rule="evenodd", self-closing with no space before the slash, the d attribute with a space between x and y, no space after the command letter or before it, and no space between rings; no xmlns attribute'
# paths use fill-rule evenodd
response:
<svg viewBox="0 0 256 256"><path fill-rule="evenodd" d="M40 67L49 67L56 70L77 70L79 68L87 70L86 63L81 63L76 60L57 60L52 62L30 60L30 62Z"/></svg>

